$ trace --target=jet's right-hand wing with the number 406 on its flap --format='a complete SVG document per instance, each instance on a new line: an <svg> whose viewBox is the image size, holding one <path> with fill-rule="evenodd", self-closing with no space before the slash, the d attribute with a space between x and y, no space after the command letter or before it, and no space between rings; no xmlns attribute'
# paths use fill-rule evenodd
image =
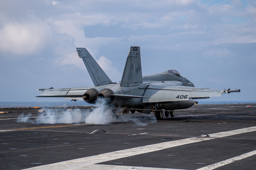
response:
<svg viewBox="0 0 256 170"><path fill-rule="evenodd" d="M151 83L148 85L144 97L143 103L149 102L162 102L162 101L180 101L209 98L221 96L223 90L215 90L209 88L196 88L188 86L171 85L170 83Z"/></svg>

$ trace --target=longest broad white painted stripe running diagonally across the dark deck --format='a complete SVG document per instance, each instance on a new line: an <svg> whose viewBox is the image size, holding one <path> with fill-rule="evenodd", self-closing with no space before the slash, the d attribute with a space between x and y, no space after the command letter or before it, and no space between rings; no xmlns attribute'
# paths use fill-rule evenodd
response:
<svg viewBox="0 0 256 170"><path fill-rule="evenodd" d="M57 169L58 170L59 169L84 169L84 168L88 168L88 166L90 166L92 164L126 158L129 156L134 156L134 155L143 154L143 153L159 151L162 149L186 145L189 143L201 142L201 141L206 141L206 140L210 140L210 139L227 137L227 136L231 136L231 135L237 135L237 134L253 132L253 131L256 131L256 126L243 128L243 129L237 129L237 130L231 130L231 131L227 131L227 132L219 132L219 133L209 134L210 137L206 137L206 138L192 137L192 138L187 138L187 139L168 141L168 142L157 143L157 144L153 144L153 145L141 146L141 147L136 147L136 148L131 148L131 149L103 153L100 155L78 158L78 159L69 160L69 161L53 163L53 164L49 164L49 165L42 165L42 166L37 166L34 168L28 168L28 169L31 169L31 170L32 169L42 169L42 170L44 170L44 169L52 169L52 170L54 170L54 169L56 169L56 170Z"/></svg>

